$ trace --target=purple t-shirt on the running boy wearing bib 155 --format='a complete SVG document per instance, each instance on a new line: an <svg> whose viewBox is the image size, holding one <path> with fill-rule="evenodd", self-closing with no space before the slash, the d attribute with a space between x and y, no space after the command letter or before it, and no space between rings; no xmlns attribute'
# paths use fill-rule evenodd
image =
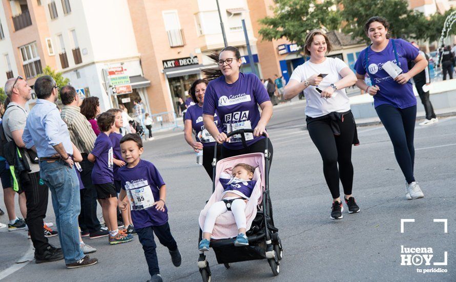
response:
<svg viewBox="0 0 456 282"><path fill-rule="evenodd" d="M155 202L160 199L159 189L164 185L164 182L157 168L151 162L141 159L134 168L128 168L127 165L121 167L118 174L123 190L132 184L136 184L135 188L149 185ZM126 185L127 182L130 185ZM162 212L153 206L145 210L133 210L131 216L135 228L160 226L168 222L168 209L164 206L164 212Z"/></svg>

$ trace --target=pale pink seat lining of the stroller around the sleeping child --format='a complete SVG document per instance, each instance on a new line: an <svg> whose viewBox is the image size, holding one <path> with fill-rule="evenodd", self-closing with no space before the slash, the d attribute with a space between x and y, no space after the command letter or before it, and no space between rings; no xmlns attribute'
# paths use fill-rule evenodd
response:
<svg viewBox="0 0 456 282"><path fill-rule="evenodd" d="M209 202L204 206L204 209L199 215L199 226L201 229L204 227L204 220L209 208L215 202L222 200L223 186L220 184L220 173L226 172L231 174L233 167L239 163L244 163L253 166L255 169L253 179L257 181L255 188L250 196L250 199L245 206L245 216L247 218L247 230L252 226L252 221L257 215L257 207L261 204L263 191L264 191L264 154L251 153L239 155L234 157L225 158L217 162L216 175L215 175L215 191L209 198ZM212 239L232 238L238 235L238 228L234 220L233 213L227 211L217 217L215 221L214 230L212 232Z"/></svg>

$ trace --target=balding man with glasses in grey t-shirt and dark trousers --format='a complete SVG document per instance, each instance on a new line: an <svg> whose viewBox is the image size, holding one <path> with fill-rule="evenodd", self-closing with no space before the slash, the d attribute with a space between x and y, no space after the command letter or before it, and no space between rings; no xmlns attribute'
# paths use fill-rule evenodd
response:
<svg viewBox="0 0 456 282"><path fill-rule="evenodd" d="M26 145L22 137L26 126L28 111L26 103L32 98L31 88L22 77L10 78L5 84L5 92L10 98L3 115L3 130L8 142L14 140L14 143L25 156L25 161L30 167L28 179L18 177L20 188L24 190L27 198L27 218L26 223L29 227L30 238L35 247L36 263L45 263L63 258L61 249L57 249L49 244L48 238L57 235L57 232L45 227L43 219L46 217L48 208L48 187L39 184L39 165L36 160L32 162L27 152ZM32 156L33 157L33 156Z"/></svg>

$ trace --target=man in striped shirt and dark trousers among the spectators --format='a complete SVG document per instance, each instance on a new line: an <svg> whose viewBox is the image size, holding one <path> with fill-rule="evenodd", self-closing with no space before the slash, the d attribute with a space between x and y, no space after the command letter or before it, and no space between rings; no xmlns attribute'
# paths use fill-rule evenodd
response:
<svg viewBox="0 0 456 282"><path fill-rule="evenodd" d="M90 238L108 236L108 230L101 228L96 216L97 192L91 177L93 163L87 159L88 154L93 150L96 135L87 118L80 113L79 106L82 104L82 99L77 95L74 87L64 86L60 90L60 98L64 104L60 116L68 126L71 142L82 154L80 176L85 188L80 190L81 212L78 221L81 236L90 236Z"/></svg>

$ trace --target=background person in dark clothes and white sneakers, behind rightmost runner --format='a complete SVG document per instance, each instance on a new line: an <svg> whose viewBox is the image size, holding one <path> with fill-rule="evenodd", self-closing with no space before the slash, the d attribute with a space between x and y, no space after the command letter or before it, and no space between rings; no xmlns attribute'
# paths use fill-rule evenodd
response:
<svg viewBox="0 0 456 282"><path fill-rule="evenodd" d="M426 112L426 119L424 122L420 123L420 126L431 125L433 123L439 122L439 119L434 113L434 108L432 107L431 101L429 99L429 85L431 79L429 76L429 56L420 50L420 46L415 42L411 43L414 47L418 48L420 55L426 58L428 61L428 66L417 75L413 76L413 82L415 83L415 88L417 89L418 95L420 96L421 103L424 106L424 111ZM415 63L413 61L408 62L408 69L412 69Z"/></svg>

